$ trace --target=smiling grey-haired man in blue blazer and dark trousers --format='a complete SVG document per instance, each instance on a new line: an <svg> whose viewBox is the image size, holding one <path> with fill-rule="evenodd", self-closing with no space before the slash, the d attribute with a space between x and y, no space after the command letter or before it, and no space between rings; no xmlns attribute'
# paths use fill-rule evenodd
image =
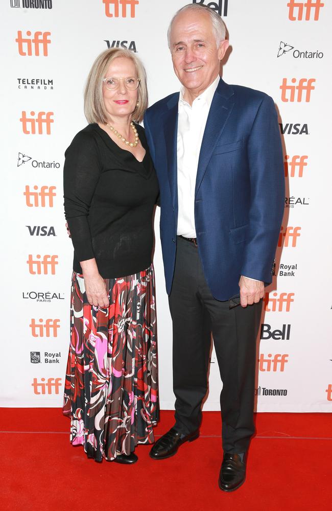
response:
<svg viewBox="0 0 332 511"><path fill-rule="evenodd" d="M223 381L219 486L233 491L254 433L255 340L283 213L280 135L269 96L220 79L228 41L215 11L180 9L169 47L182 88L144 124L160 185L175 426L150 456L173 456L199 436L212 331Z"/></svg>

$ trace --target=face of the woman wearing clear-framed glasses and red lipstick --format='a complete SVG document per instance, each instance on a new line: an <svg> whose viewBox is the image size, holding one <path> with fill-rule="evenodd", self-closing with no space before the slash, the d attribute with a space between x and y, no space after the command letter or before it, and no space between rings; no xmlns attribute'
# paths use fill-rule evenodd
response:
<svg viewBox="0 0 332 511"><path fill-rule="evenodd" d="M122 78L115 90L106 88L103 82L103 98L109 120L115 117L126 117L136 108L138 89L128 90L126 78L137 78L134 62L127 57L116 57L109 65L104 78Z"/></svg>

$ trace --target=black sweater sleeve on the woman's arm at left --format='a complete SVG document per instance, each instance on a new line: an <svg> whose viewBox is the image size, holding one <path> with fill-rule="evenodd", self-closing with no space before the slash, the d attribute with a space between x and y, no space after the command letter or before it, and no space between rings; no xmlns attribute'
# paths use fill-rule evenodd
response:
<svg viewBox="0 0 332 511"><path fill-rule="evenodd" d="M63 169L64 212L79 261L94 258L88 216L100 174L97 143L80 131L65 152Z"/></svg>

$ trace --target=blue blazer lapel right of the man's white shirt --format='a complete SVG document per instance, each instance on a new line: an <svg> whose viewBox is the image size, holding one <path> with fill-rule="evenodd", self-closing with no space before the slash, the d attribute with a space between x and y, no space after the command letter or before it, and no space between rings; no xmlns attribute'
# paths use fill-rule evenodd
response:
<svg viewBox="0 0 332 511"><path fill-rule="evenodd" d="M233 94L232 87L220 79L217 90L212 99L199 153L195 195L198 192L217 140L223 132L230 112L234 106L234 103L230 101Z"/></svg>

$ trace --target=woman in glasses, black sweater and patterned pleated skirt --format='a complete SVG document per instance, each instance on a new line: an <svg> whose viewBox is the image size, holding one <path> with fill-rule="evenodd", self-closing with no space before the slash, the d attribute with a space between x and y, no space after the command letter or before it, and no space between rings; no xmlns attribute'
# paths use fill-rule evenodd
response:
<svg viewBox="0 0 332 511"><path fill-rule="evenodd" d="M146 73L128 50L93 63L88 126L65 153L64 208L74 245L63 413L70 441L96 461L134 463L158 421L152 217L158 183L144 129Z"/></svg>

